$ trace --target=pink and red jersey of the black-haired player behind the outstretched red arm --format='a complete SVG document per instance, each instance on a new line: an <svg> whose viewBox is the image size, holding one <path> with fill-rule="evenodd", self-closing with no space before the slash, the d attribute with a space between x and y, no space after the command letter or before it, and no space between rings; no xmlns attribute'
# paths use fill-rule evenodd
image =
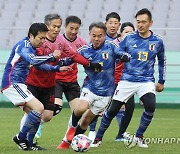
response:
<svg viewBox="0 0 180 154"><path fill-rule="evenodd" d="M77 52L77 49L82 47L83 45L87 44L86 41L80 37L77 36L77 38L74 41L68 40L64 34L61 34L58 38L60 40L60 48L62 51L68 50L68 48L71 48L73 51ZM64 57L69 57L67 55L67 52L62 55L62 58ZM67 71L67 72L56 72L56 80L60 80L61 82L76 82L77 81L77 73L78 73L78 68L77 68L77 63L73 63L70 65L70 67L73 69L72 71Z"/></svg>

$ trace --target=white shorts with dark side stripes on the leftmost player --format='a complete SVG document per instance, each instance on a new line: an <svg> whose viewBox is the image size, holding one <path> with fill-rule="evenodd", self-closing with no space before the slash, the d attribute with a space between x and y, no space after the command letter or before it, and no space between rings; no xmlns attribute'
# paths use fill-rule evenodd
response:
<svg viewBox="0 0 180 154"><path fill-rule="evenodd" d="M13 84L2 91L3 94L15 105L20 106L34 98L25 84Z"/></svg>

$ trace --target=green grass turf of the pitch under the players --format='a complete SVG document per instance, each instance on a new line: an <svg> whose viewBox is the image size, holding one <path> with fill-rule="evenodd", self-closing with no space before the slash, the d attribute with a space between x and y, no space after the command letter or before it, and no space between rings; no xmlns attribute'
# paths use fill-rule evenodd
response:
<svg viewBox="0 0 180 154"><path fill-rule="evenodd" d="M140 115L143 109L135 110L133 119L128 128L128 131L135 133L139 124ZM18 132L19 122L23 112L17 108L0 108L0 154L21 154L25 153L18 149L18 147L11 141L11 138ZM64 136L67 127L67 121L70 116L70 109L65 108L51 122L46 123L43 128L43 136L38 141L39 144L47 151L36 151L27 153L43 153L43 154L69 154L75 153L72 149L60 151L56 146L60 143ZM123 143L115 143L114 138L118 130L116 120L113 120L110 128L105 133L103 143L99 148L91 148L87 153L91 154L124 154L124 153L180 153L180 118L179 109L157 109L154 119L145 133L148 138L179 138L177 143L160 143L149 144L148 149L135 147L133 149L126 149Z"/></svg>

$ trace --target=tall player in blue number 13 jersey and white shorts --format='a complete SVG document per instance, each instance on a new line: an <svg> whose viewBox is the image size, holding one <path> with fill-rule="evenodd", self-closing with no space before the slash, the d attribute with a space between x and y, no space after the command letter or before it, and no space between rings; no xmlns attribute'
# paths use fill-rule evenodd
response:
<svg viewBox="0 0 180 154"><path fill-rule="evenodd" d="M164 89L166 59L162 38L150 30L153 24L151 12L144 8L139 10L135 17L137 31L127 34L119 44L120 51L126 51L131 55L130 62L124 64L121 80L114 93L112 104L103 115L96 138L92 144L93 147L98 147L101 144L103 135L112 119L121 106L135 93L143 102L145 110L141 116L139 128L133 142L137 143L139 147L148 147L143 135L154 115L155 90L161 92ZM156 57L159 66L159 80L155 85L154 63Z"/></svg>

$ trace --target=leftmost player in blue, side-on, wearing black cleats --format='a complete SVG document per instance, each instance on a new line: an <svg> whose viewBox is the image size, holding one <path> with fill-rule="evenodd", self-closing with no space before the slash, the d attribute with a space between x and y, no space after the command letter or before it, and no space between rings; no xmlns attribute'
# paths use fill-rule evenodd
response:
<svg viewBox="0 0 180 154"><path fill-rule="evenodd" d="M42 103L25 85L29 68L31 65L54 61L61 55L61 52L56 50L46 56L36 56L35 49L43 44L47 31L48 28L43 23L33 23L30 26L28 36L13 47L2 78L2 93L28 114L22 129L13 137L13 141L23 150L39 150L39 147L32 144L31 132L39 127L40 117L44 111Z"/></svg>

